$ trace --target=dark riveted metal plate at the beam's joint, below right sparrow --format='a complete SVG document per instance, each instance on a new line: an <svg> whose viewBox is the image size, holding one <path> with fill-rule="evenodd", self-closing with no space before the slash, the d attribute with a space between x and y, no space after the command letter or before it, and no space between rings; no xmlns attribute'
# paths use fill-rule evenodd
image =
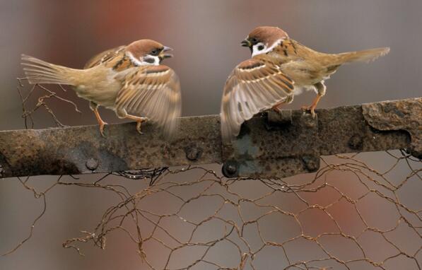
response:
<svg viewBox="0 0 422 270"><path fill-rule="evenodd" d="M317 117L291 112L291 122L269 122L277 112L264 113L242 125L237 139L223 147L223 173L227 166L235 167L226 176L286 177L314 172L319 160ZM312 165L311 165L312 164ZM233 169L232 169L233 171Z"/></svg>

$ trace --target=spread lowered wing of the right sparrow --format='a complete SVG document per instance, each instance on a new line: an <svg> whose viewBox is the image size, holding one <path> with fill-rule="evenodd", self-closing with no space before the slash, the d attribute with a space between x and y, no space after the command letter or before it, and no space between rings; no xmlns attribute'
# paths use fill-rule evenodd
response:
<svg viewBox="0 0 422 270"><path fill-rule="evenodd" d="M243 122L293 94L293 81L271 61L255 57L233 69L221 100L223 141L237 136Z"/></svg>

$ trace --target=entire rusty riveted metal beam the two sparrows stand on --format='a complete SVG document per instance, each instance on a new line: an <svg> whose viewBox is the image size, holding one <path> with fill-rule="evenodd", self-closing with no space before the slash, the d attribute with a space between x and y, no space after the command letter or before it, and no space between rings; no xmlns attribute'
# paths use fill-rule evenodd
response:
<svg viewBox="0 0 422 270"><path fill-rule="evenodd" d="M0 131L0 177L115 172L223 163L228 177L286 177L319 168L320 155L406 148L421 158L422 98L317 110L264 112L221 143L217 115L184 117L172 142L153 124Z"/></svg>

